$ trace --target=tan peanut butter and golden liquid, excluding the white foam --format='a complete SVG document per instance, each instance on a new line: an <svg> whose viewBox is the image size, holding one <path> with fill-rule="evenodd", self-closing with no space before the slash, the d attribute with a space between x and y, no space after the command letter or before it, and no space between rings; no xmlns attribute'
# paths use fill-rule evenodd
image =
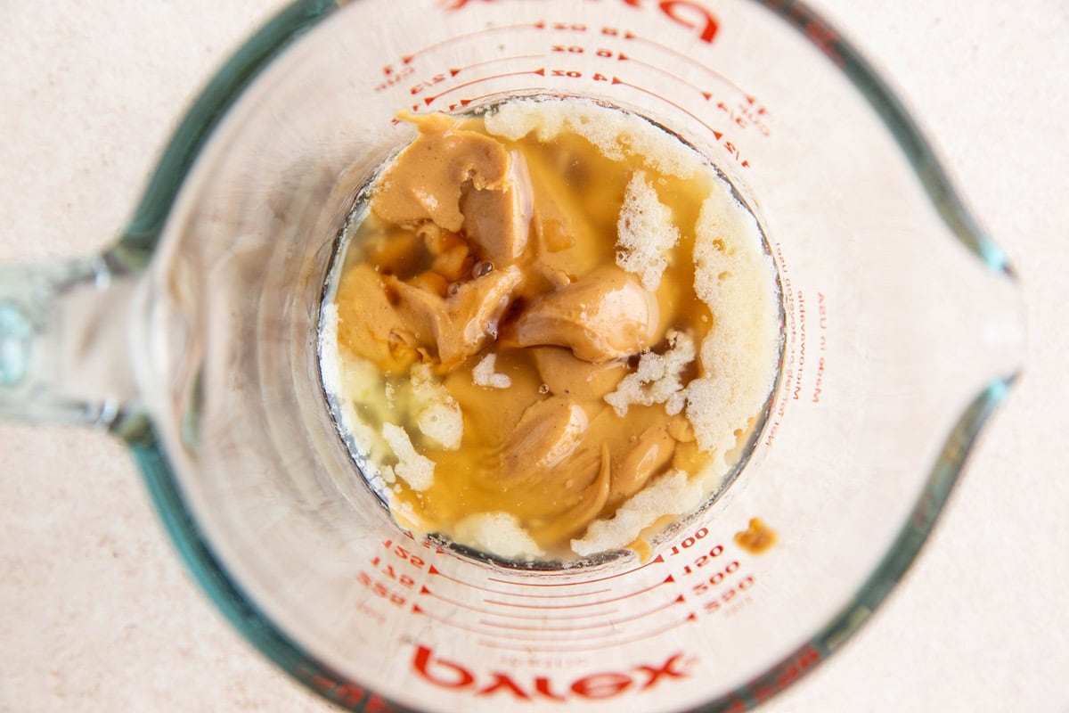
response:
<svg viewBox="0 0 1069 713"><path fill-rule="evenodd" d="M490 136L480 117L408 120L420 134L387 167L352 235L336 296L339 355L373 363L388 393L404 390L414 365L430 365L462 414L463 441L433 447L397 399L357 403L363 422L403 427L434 462L429 487L392 485L391 509L447 537L472 514L509 513L547 556L574 557L571 538L657 476L698 477L710 464L682 414L654 404L620 416L603 397L640 353L667 348L668 330L699 344L710 334L692 252L714 179L668 175L638 154L609 158L568 131L512 141ZM654 292L616 264L621 206L639 171L680 234ZM508 388L474 383L489 353ZM698 375L695 361L685 381ZM645 539L633 545L650 556Z"/></svg>

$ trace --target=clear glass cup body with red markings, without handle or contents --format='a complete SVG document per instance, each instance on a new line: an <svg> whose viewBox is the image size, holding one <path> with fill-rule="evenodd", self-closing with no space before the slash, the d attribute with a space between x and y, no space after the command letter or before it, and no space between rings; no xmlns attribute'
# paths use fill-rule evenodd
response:
<svg viewBox="0 0 1069 713"><path fill-rule="evenodd" d="M120 432L205 589L306 684L368 711L744 710L904 572L1018 368L1020 301L867 66L768 4L297 3L195 106L115 252L152 252L131 327L151 425ZM646 564L537 572L412 539L326 407L324 281L357 189L410 138L397 112L515 94L677 133L779 270L752 458ZM778 534L761 556L735 544L755 517Z"/></svg>

